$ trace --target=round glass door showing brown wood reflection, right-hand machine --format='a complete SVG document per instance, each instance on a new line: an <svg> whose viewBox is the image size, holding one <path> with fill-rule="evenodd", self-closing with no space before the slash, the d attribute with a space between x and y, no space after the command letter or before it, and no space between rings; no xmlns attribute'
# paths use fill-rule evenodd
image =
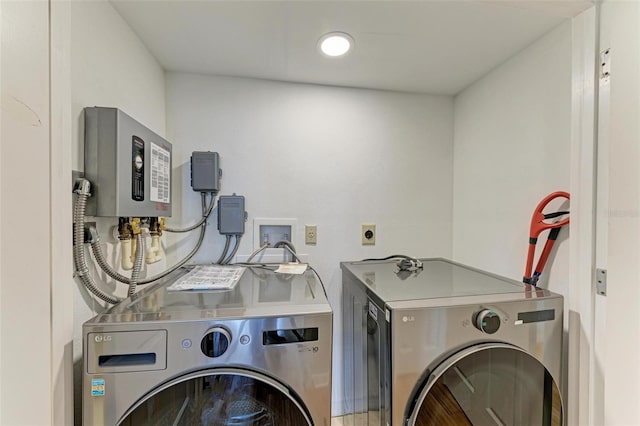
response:
<svg viewBox="0 0 640 426"><path fill-rule="evenodd" d="M562 425L559 387L533 356L506 344L460 351L429 376L408 424Z"/></svg>

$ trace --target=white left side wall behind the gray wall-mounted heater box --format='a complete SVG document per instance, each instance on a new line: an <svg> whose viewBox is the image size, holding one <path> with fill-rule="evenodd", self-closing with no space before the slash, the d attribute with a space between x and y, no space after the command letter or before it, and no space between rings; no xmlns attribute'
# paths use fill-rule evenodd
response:
<svg viewBox="0 0 640 426"><path fill-rule="evenodd" d="M84 170L84 114L87 106L118 107L156 133L165 132L164 71L147 51L132 29L113 7L104 0L73 1L70 25L71 120L73 170ZM69 185L71 182L69 181ZM69 187L71 191L71 187ZM64 226L71 225L71 218ZM98 230L109 253L110 263L119 264L119 251L110 234L117 219L98 218ZM71 262L71 249L68 259ZM161 268L160 265L154 265ZM153 270L153 268L151 268ZM102 278L97 278L101 282ZM68 285L76 288L74 296L74 344L76 367L82 357L82 323L103 308L88 296L88 292L69 278ZM109 282L103 289L113 291ZM126 295L126 286L118 284L116 294ZM76 422L79 420L80 370L76 368Z"/></svg>

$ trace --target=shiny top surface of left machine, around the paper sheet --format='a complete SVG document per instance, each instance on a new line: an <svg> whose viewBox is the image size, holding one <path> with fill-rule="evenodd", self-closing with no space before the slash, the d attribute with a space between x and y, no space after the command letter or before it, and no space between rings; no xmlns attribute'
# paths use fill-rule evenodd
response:
<svg viewBox="0 0 640 426"><path fill-rule="evenodd" d="M198 319L237 319L330 313L331 307L317 275L274 273L247 267L231 290L167 290L190 270L184 267L163 281L136 293L87 324Z"/></svg>

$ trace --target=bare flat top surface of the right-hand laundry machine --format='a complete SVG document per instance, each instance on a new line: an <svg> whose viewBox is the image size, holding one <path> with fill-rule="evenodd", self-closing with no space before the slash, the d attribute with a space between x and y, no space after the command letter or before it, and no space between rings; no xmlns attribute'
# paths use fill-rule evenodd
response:
<svg viewBox="0 0 640 426"><path fill-rule="evenodd" d="M552 294L446 259L421 261L423 269L415 272L399 272L397 260L343 262L341 267L387 304L427 299L456 299L459 302L464 299L467 302L481 299L481 296L496 299L496 295L498 300L519 299L532 288L534 297Z"/></svg>

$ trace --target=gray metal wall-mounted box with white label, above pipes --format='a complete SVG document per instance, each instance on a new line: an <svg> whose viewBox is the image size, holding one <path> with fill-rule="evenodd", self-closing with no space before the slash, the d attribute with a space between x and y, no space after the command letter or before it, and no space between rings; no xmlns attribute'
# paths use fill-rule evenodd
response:
<svg viewBox="0 0 640 426"><path fill-rule="evenodd" d="M117 108L84 109L88 216L171 216L171 144Z"/></svg>

